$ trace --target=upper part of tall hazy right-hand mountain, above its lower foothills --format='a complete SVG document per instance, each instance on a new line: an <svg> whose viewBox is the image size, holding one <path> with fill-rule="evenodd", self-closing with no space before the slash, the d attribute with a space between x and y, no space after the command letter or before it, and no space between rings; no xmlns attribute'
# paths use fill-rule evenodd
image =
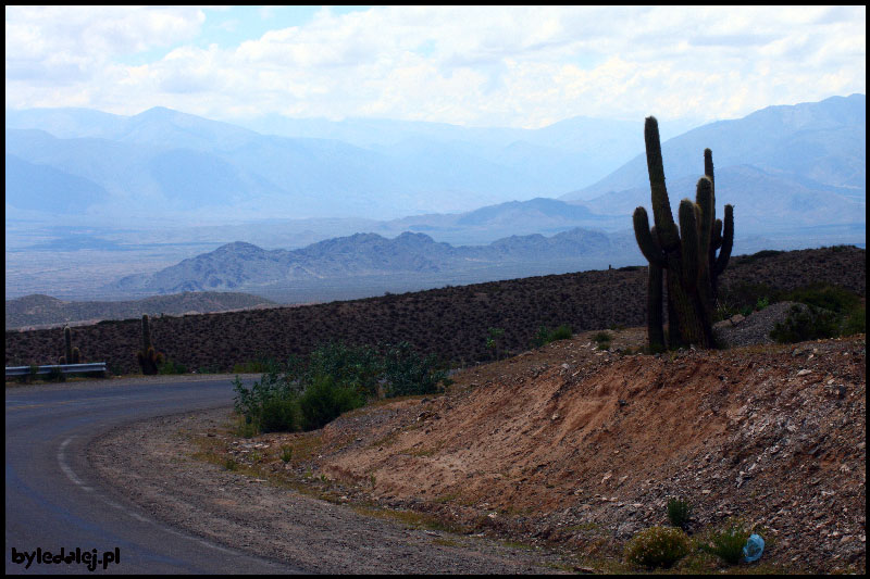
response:
<svg viewBox="0 0 870 579"><path fill-rule="evenodd" d="M799 184L806 190L825 190L863 201L867 98L852 95L792 106L768 106L743 118L692 129L662 142L669 182L682 177L700 177L705 148L713 152L717 179L728 167L751 165L770 178L785 179L788 186ZM596 199L588 206L609 206L609 198L601 196L645 186L648 186L648 174L646 156L642 153L595 185L560 199ZM693 190L694 187L688 191ZM688 191L673 194L688 197ZM767 192L757 191L758 194Z"/></svg>

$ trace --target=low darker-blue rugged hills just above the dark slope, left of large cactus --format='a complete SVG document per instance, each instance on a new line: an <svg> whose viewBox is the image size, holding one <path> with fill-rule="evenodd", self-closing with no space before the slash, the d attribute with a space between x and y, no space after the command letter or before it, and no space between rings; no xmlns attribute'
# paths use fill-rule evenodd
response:
<svg viewBox="0 0 870 579"><path fill-rule="evenodd" d="M494 265L607 259L626 252L634 252L641 259L633 236L581 228L549 238L512 236L488 246L453 247L412 232L395 239L357 234L293 251L266 251L251 243L235 242L153 274L126 276L104 290L125 293L262 291L269 286L300 280L395 274L449 275Z"/></svg>

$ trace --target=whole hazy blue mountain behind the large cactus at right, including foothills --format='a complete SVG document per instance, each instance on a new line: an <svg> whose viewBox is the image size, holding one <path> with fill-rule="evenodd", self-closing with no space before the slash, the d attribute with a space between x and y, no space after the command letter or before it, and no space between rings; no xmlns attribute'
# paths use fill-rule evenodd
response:
<svg viewBox="0 0 870 579"><path fill-rule="evenodd" d="M769 106L663 142L673 207L680 199L694 199L705 148L713 152L717 202L734 204L735 222L748 230L866 223L863 95ZM594 213L627 215L638 205L649 207L646 156L559 199L582 202Z"/></svg>

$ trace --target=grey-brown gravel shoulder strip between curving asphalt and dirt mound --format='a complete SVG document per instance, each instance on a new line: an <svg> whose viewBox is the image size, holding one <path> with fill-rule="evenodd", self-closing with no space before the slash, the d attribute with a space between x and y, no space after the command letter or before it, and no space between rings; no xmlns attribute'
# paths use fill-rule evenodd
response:
<svg viewBox="0 0 870 579"><path fill-rule="evenodd" d="M192 534L331 574L542 574L570 564L542 550L360 514L195 457L197 435L229 408L161 417L95 440L88 458L111 492ZM241 570L244 569L236 569Z"/></svg>

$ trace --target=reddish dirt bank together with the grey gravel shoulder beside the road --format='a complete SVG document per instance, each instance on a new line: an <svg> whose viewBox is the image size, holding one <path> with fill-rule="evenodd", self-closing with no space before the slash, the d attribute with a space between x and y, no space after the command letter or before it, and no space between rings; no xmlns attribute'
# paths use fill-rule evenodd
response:
<svg viewBox="0 0 870 579"><path fill-rule="evenodd" d="M756 528L750 572L866 570L863 336L650 356L642 328L608 333L609 351L587 332L315 432L245 439L227 413L174 417L91 460L157 516L312 570L633 570L624 544L667 524L669 498L692 504L695 537L730 517ZM722 569L695 556L674 570Z"/></svg>

